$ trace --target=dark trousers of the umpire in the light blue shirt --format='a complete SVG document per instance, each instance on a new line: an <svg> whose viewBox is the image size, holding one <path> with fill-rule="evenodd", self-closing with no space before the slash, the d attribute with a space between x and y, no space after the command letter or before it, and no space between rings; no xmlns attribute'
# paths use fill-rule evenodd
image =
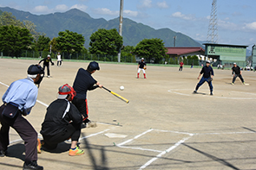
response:
<svg viewBox="0 0 256 170"><path fill-rule="evenodd" d="M14 118L2 115L4 105L0 107L0 150L7 150L10 127L15 129L25 143L25 162L37 161L37 133L32 125L19 112Z"/></svg>

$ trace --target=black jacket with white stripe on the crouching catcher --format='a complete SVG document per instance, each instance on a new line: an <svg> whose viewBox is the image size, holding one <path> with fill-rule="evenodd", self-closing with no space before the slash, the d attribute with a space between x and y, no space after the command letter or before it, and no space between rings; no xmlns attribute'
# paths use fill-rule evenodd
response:
<svg viewBox="0 0 256 170"><path fill-rule="evenodd" d="M47 108L44 121L42 123L42 129L40 133L42 135L56 135L67 130L67 126L70 121L77 126L82 123L82 115L79 110L76 109L74 104L70 104L69 111L62 118L65 110L67 109L68 100L56 99L54 102L49 104Z"/></svg>

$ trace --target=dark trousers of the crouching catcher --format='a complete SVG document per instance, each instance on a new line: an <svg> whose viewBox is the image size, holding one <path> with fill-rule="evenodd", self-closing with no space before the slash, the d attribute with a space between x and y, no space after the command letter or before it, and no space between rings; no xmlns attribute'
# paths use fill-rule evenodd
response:
<svg viewBox="0 0 256 170"><path fill-rule="evenodd" d="M81 135L81 128L79 125L74 125L73 123L69 123L67 126L67 130L62 133L58 133L56 135L43 135L43 147L54 149L57 147L58 143L64 142L71 137L71 141L77 141Z"/></svg>

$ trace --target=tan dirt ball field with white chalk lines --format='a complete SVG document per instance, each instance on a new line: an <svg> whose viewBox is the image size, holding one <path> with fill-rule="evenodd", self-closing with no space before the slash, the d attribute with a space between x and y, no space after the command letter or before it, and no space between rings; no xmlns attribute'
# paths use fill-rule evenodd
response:
<svg viewBox="0 0 256 170"><path fill-rule="evenodd" d="M16 79L26 77L37 60L0 59L0 96ZM55 61L56 64L56 61ZM64 61L50 66L37 103L27 119L39 133L47 105L59 86L73 84L88 62ZM148 66L147 79L136 79L136 65L100 63L94 78L108 91L89 91L89 118L95 128L82 129L81 156L68 155L69 141L38 154L44 169L256 169L256 72L242 72L246 84L231 83L230 70L214 70L213 96L207 83L192 94L200 68ZM119 87L123 85L124 91ZM108 135L108 136L107 136ZM114 135L114 136L112 136ZM42 136L39 134L39 138ZM10 129L10 147L0 169L21 169L23 141Z"/></svg>

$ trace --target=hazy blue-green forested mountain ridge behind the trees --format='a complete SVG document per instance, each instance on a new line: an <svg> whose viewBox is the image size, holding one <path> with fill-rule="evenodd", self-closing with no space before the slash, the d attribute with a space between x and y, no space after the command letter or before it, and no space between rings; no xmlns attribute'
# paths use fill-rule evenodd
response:
<svg viewBox="0 0 256 170"><path fill-rule="evenodd" d="M38 32L45 33L49 38L58 36L60 31L70 31L82 34L85 38L85 47L89 47L89 37L98 28L119 28L119 18L105 20L95 19L79 9L70 9L67 12L48 15L33 15L30 12L0 7L2 11L11 12L18 20L30 20L36 24ZM160 38L166 47L174 46L174 35L177 36L176 47L201 47L200 43L194 41L187 35L176 33L169 28L154 29L148 25L134 22L128 18L123 19L123 44L124 46L135 46L145 38Z"/></svg>

